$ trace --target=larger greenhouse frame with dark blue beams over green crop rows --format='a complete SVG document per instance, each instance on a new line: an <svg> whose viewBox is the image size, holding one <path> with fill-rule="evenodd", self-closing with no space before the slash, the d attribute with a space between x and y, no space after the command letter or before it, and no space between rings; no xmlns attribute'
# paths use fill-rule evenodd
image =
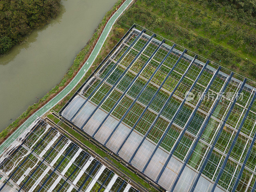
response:
<svg viewBox="0 0 256 192"><path fill-rule="evenodd" d="M60 115L167 191L254 192L255 85L133 25Z"/></svg>

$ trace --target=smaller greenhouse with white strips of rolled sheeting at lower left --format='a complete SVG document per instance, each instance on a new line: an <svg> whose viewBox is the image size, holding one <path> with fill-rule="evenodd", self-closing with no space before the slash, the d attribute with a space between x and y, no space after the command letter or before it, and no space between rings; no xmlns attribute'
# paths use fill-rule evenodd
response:
<svg viewBox="0 0 256 192"><path fill-rule="evenodd" d="M38 118L0 157L2 192L139 192Z"/></svg>

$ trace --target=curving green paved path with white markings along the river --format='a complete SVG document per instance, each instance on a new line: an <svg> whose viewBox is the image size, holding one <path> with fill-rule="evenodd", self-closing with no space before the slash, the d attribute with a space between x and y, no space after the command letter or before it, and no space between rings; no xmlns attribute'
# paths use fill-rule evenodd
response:
<svg viewBox="0 0 256 192"><path fill-rule="evenodd" d="M5 147L8 147L10 143L13 140L15 140L38 116L44 115L44 113L49 111L54 105L56 105L60 100L62 100L78 84L78 82L83 78L84 74L87 72L88 68L90 68L90 66L96 59L113 24L132 1L133 0L126 0L124 4L117 10L117 12L108 21L104 31L100 36L99 41L97 42L95 48L92 51L92 54L90 55L89 59L85 62L84 66L77 73L75 78L58 95L56 95L52 100L50 100L42 108L36 111L36 113L34 113L31 117L29 117L27 121L25 121L7 140L4 141L4 143L2 143L2 145L0 146L0 154L4 151Z"/></svg>

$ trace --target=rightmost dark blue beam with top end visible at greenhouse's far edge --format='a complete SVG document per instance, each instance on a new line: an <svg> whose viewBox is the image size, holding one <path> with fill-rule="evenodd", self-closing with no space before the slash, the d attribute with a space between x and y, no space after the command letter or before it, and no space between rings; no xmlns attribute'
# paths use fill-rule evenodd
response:
<svg viewBox="0 0 256 192"><path fill-rule="evenodd" d="M219 139L219 137L220 137L220 134L221 134L221 132L222 132L222 130L223 130L223 128L224 128L224 126L225 126L227 120L228 120L228 117L229 117L229 115L231 114L231 112L232 112L232 110L233 110L233 108L234 108L234 106L235 106L235 104L236 104L236 100L238 99L240 93L242 92L242 90L243 90L243 88L244 88L244 85L245 85L245 83L246 83L246 80L247 80L247 79L245 78L244 81L243 81L243 83L242 83L242 85L241 85L241 87L240 87L240 89L239 89L239 91L237 92L236 97L235 97L234 101L232 102L231 107L230 107L229 110L228 110L228 114L226 115L226 117L225 117L223 123L221 124L221 127L220 127L220 129L219 129L219 132L218 132L218 134L216 135L216 137L215 137L215 139L214 139L214 141L213 141L212 147L210 148L210 151L207 153L207 156L206 156L206 158L205 158L205 160L204 160L204 163L202 164L202 167L200 168L200 171L198 172L198 174L197 174L197 176L196 176L196 180L194 181L194 183L193 183L193 185L192 185L192 187L191 187L191 189L190 189L190 192L194 192L194 190L195 190L195 188L196 188L196 184L197 184L197 182L198 182L198 180L199 180L199 178L200 178L202 172L204 171L204 168L205 168L205 166L206 166L206 164L207 164L207 162L208 162L208 159L210 159L210 156L212 155L213 148L214 148L214 146L216 145L216 143L217 143L217 141L218 141L218 139Z"/></svg>

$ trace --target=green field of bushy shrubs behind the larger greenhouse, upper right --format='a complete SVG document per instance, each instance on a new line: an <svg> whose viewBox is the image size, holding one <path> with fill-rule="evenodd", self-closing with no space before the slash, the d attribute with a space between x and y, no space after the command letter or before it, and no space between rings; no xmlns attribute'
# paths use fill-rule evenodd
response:
<svg viewBox="0 0 256 192"><path fill-rule="evenodd" d="M256 78L255 0L138 0L120 19L137 23L243 76Z"/></svg>

